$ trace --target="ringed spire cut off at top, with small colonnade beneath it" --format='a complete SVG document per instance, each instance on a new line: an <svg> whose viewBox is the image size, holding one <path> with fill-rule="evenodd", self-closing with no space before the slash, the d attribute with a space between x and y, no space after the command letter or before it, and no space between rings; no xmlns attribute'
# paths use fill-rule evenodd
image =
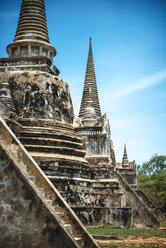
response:
<svg viewBox="0 0 166 248"><path fill-rule="evenodd" d="M17 31L7 53L10 58L47 56L52 61L56 49L49 42L44 0L22 0Z"/></svg>

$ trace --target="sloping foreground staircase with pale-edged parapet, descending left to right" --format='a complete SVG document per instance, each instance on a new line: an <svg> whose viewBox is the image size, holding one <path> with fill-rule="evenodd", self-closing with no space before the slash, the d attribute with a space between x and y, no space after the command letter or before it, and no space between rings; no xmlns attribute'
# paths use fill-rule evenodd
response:
<svg viewBox="0 0 166 248"><path fill-rule="evenodd" d="M0 145L14 162L19 173L52 214L53 220L73 243L72 247L99 247L58 190L45 176L21 142L0 117Z"/></svg>

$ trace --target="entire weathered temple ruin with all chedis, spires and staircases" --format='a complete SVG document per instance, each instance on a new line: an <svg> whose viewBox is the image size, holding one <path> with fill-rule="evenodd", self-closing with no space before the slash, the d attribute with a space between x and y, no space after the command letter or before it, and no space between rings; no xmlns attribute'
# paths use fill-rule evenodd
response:
<svg viewBox="0 0 166 248"><path fill-rule="evenodd" d="M0 59L0 245L29 247L32 240L31 247L98 247L80 220L157 227L162 215L138 190L126 148L116 163L91 40L78 119L69 86L53 65L44 0L22 0L7 52L9 58Z"/></svg>

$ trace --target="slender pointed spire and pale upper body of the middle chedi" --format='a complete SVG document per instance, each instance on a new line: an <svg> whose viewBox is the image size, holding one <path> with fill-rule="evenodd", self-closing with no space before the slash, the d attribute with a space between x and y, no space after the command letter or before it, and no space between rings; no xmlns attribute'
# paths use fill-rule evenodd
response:
<svg viewBox="0 0 166 248"><path fill-rule="evenodd" d="M113 142L106 114L101 116L91 38L79 118L74 120L74 126L86 149L87 161L98 171L94 177L114 178Z"/></svg>

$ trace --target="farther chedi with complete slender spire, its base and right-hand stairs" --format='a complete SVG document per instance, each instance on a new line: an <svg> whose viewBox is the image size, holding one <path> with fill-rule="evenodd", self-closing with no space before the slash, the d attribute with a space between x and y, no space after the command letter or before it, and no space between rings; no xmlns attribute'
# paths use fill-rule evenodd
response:
<svg viewBox="0 0 166 248"><path fill-rule="evenodd" d="M158 226L161 213L137 188L135 161L128 161L126 145L122 163L116 163L109 121L100 111L91 39L79 118L74 126L91 171L90 190L87 187L84 195L89 202L84 203L86 209L75 206L78 216L88 224Z"/></svg>

